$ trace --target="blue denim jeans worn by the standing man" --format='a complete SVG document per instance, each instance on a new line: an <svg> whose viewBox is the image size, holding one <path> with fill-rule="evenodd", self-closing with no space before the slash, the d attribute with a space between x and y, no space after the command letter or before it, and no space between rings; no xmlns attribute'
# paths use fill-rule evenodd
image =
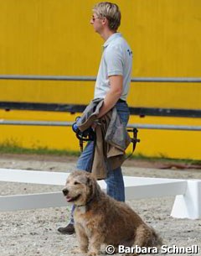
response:
<svg viewBox="0 0 201 256"><path fill-rule="evenodd" d="M129 119L129 108L126 102L117 102L116 110L121 118L121 122L126 126ZM90 171L90 166L93 160L93 147L94 142L90 141L86 146L80 158L77 162L78 170ZM125 187L123 175L121 172L121 167L116 168L116 170L107 170L106 178L106 193L108 196L113 197L117 201L125 201ZM72 207L70 214L70 223L74 223L73 212L75 206Z"/></svg>

